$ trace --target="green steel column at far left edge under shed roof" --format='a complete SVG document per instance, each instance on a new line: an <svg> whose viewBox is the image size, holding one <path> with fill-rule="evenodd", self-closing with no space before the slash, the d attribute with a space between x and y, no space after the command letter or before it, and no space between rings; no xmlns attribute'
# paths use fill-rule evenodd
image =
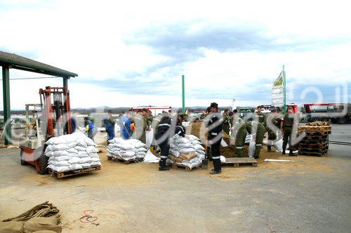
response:
<svg viewBox="0 0 351 233"><path fill-rule="evenodd" d="M8 65L2 67L2 90L4 99L4 144L11 144L11 107L10 107L10 69ZM6 124L8 123L8 124Z"/></svg>

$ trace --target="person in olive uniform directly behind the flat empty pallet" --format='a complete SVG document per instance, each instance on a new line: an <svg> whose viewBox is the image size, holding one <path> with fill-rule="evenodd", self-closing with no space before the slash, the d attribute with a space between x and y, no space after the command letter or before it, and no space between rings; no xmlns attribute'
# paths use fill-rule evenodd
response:
<svg viewBox="0 0 351 233"><path fill-rule="evenodd" d="M229 113L230 120L232 121L232 137L235 140L235 147L239 158L244 157L244 145L246 139L246 123L237 115L237 109Z"/></svg>

